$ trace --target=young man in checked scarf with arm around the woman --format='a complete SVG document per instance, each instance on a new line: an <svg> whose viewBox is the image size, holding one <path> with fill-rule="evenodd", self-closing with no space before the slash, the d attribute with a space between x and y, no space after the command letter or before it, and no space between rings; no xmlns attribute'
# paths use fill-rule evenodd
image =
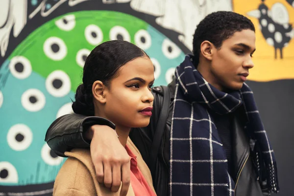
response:
<svg viewBox="0 0 294 196"><path fill-rule="evenodd" d="M194 56L187 55L166 88L154 88L153 115L130 137L151 170L158 196L262 196L278 191L276 162L253 94L244 83L253 68L255 28L233 12L215 12L197 26ZM165 96L164 96L165 95ZM168 101L169 111L162 108ZM168 113L159 149L157 126ZM112 127L112 128L110 128ZM89 147L98 181L117 192L129 183L129 157L98 117L57 119L46 141L58 155ZM151 149L150 149L151 148ZM156 159L149 160L155 152ZM122 192L121 192L122 193Z"/></svg>

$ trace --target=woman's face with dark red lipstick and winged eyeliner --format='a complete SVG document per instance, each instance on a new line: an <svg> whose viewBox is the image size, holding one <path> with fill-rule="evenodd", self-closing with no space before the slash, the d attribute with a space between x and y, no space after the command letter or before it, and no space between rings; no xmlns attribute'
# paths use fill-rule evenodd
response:
<svg viewBox="0 0 294 196"><path fill-rule="evenodd" d="M153 105L153 82L154 67L147 56L123 65L105 92L105 117L117 126L147 126Z"/></svg>

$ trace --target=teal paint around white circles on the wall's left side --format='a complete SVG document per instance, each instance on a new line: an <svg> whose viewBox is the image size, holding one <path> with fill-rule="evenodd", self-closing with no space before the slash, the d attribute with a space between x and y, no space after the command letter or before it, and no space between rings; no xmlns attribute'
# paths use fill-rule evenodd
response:
<svg viewBox="0 0 294 196"><path fill-rule="evenodd" d="M9 62L5 62L7 63ZM6 66L1 67L0 74L7 74L7 68L5 68ZM32 88L40 90L46 97L44 108L38 112L25 110L21 103L23 93ZM51 166L45 163L41 157L41 149L45 144L47 128L56 119L60 107L71 102L73 92L63 98L51 96L45 88L45 79L34 72L22 80L8 73L5 86L0 90L3 94L3 104L0 107L0 162L11 163L16 168L19 179L18 183L0 182L0 185L39 184L53 181L62 164ZM33 134L31 145L22 151L10 148L7 142L8 130L18 123L27 125Z"/></svg>

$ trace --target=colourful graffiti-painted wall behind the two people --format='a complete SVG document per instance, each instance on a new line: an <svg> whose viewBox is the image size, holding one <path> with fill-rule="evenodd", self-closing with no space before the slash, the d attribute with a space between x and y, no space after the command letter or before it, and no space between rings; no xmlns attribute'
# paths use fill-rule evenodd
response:
<svg viewBox="0 0 294 196"><path fill-rule="evenodd" d="M294 180L294 0L1 0L0 196L52 195L65 161L44 142L72 113L87 55L121 39L150 56L155 85L168 84L209 13L235 11L256 31L252 87L278 159L281 192ZM292 172L292 173L291 173Z"/></svg>

